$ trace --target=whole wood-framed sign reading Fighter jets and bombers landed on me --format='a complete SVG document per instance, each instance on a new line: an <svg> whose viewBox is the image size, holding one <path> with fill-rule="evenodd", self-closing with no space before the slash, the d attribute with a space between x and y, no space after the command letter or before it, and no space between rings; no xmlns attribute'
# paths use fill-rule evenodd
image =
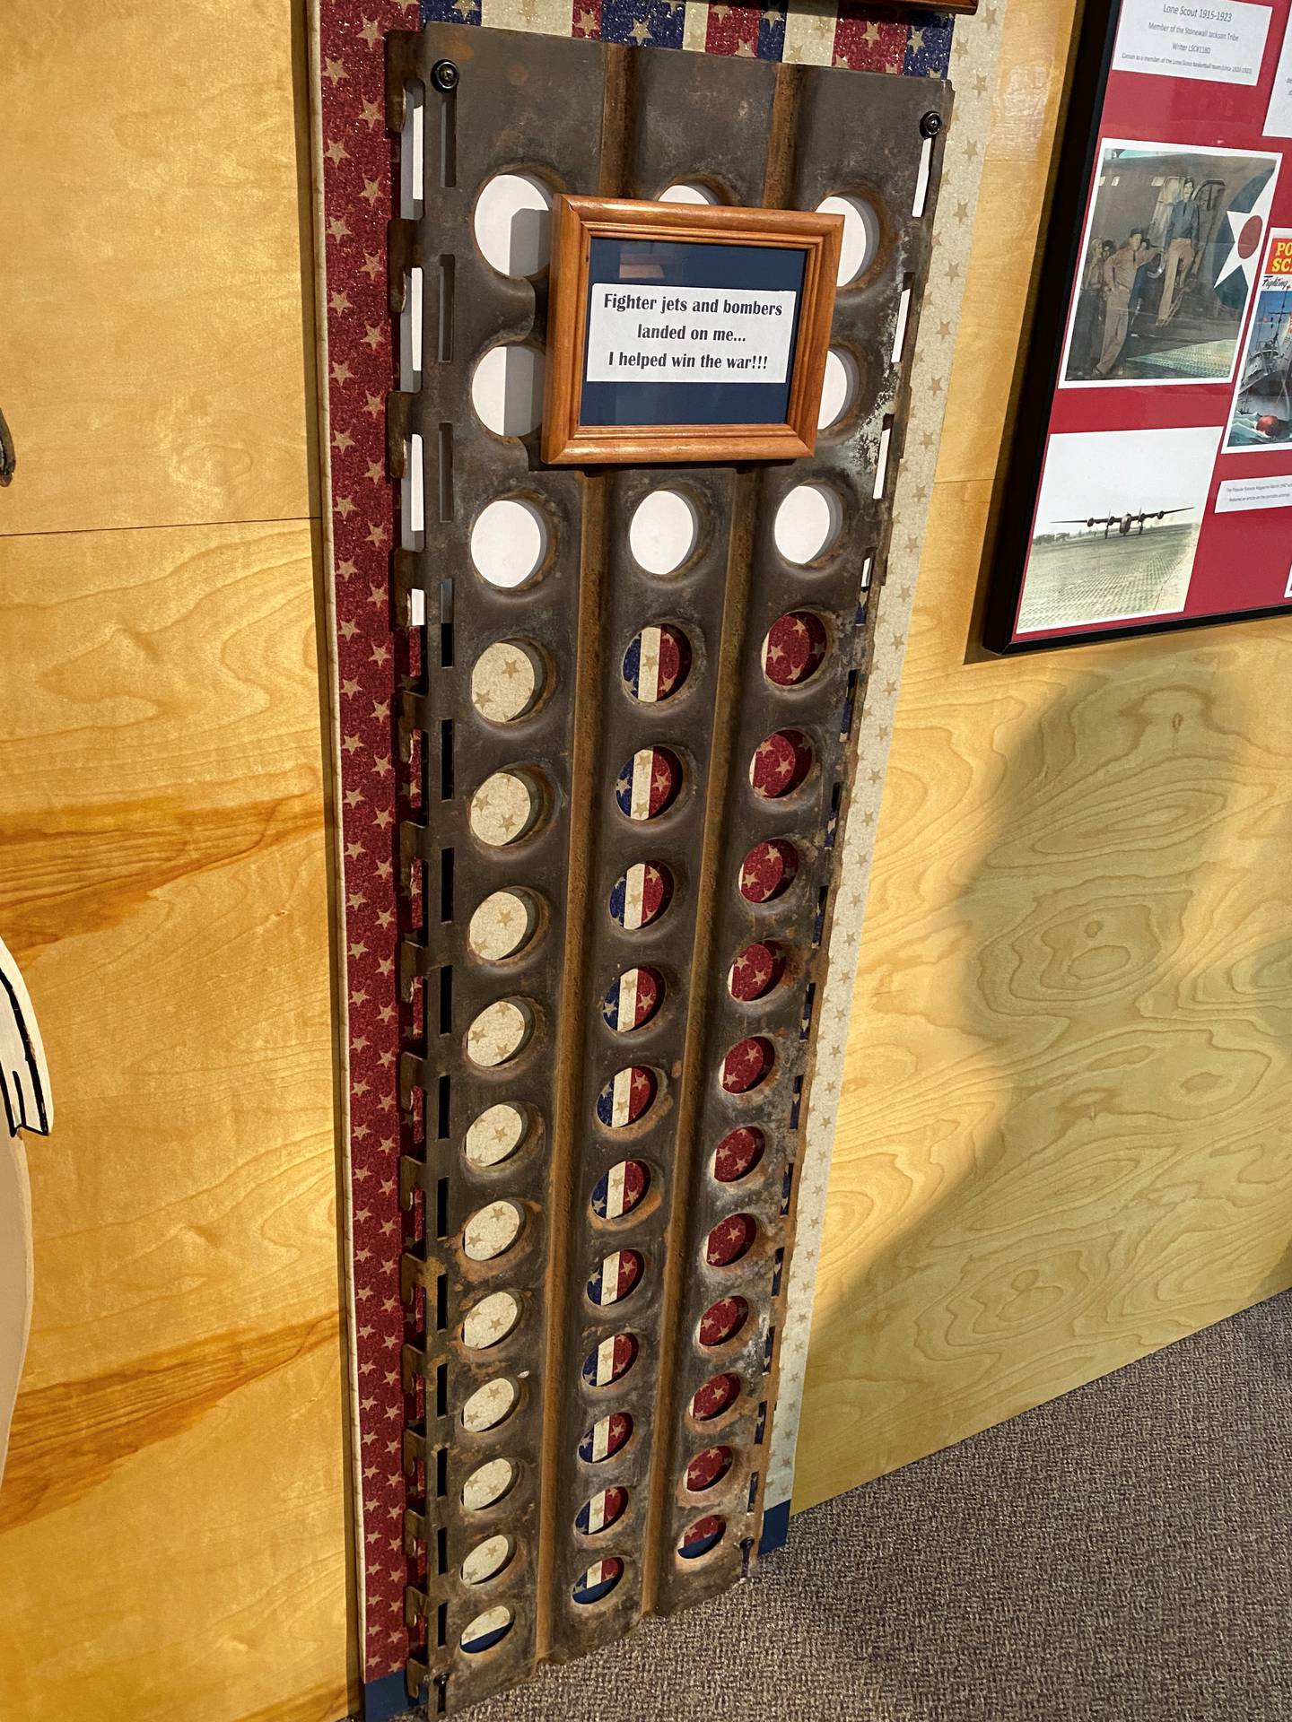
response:
<svg viewBox="0 0 1292 1722"><path fill-rule="evenodd" d="M553 222L546 461L811 455L842 217L560 196Z"/></svg>

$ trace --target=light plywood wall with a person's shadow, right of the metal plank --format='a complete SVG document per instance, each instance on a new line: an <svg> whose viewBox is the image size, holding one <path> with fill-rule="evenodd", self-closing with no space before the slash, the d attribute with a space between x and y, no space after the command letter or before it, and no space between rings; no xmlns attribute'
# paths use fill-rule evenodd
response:
<svg viewBox="0 0 1292 1722"><path fill-rule="evenodd" d="M966 651L1070 31L1009 0L796 1507L1292 1285L1292 623Z"/></svg>

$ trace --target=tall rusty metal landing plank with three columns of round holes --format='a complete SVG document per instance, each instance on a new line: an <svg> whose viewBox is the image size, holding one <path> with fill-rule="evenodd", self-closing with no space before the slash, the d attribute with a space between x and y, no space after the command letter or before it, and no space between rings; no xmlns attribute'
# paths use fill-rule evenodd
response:
<svg viewBox="0 0 1292 1722"><path fill-rule="evenodd" d="M446 60L457 79L436 72ZM429 1679L431 1710L443 1713L543 1658L608 1643L643 1612L730 1584L756 1548L810 1000L937 181L939 141L927 143L920 122L930 108L946 117L949 91L455 26L389 38L388 77L391 129L403 126L405 91L420 86L427 138L420 219L391 229L394 312L410 270L424 274L424 362L420 379L405 377L419 386L391 398L388 424L396 475L419 446L425 475L424 544L407 539L396 553L400 615L413 603L424 615L408 630L401 709L415 765L400 833L401 1292L419 1329L405 1350L410 1624L417 1639L425 1629L410 1688ZM929 189L913 219L922 155ZM679 179L749 205L863 195L880 246L841 289L832 334L853 353L860 387L817 456L581 474L543 468L536 436L486 430L470 405L475 362L496 341L541 346L546 313L546 276L500 276L472 234L481 188L508 169L627 196L658 196ZM834 544L806 568L775 539L780 501L804 482L827 486L841 511ZM639 567L629 539L636 506L658 487L687 496L699 520L693 554L667 577ZM529 584L500 591L474 572L470 534L486 505L508 496L543 511L550 549ZM813 673L801 685L765 672L768 632L798 625L787 616L811 622ZM653 703L624 673L644 627L675 630L689 651L684 680ZM524 642L546 673L541 701L508 725L470 697L472 665L498 641ZM768 737L787 732L768 753ZM646 778L634 806L634 756L672 789L646 820L629 816L649 806ZM760 792L779 787L775 758L803 778L784 796ZM494 771L517 771L536 792L532 830L501 847L481 842L470 820ZM741 889L749 852L751 878L758 858L772 871L792 861L784 892L751 901L767 880ZM634 863L670 885L667 909L644 926L610 913ZM472 951L467 928L500 887L527 892L537 914L525 949L496 963ZM744 983L736 997L729 975L749 945L779 973L758 997ZM641 983L620 987L634 969ZM503 999L520 1002L529 1038L482 1069L469 1026ZM639 1026L625 1031L624 1013ZM760 1080L732 1092L727 1075L742 1083L749 1061L768 1056ZM630 1080L615 1097L625 1069L655 1090L637 1118L625 1118ZM482 1168L467 1131L500 1102L524 1112L527 1135ZM744 1133L739 1152L732 1131ZM744 1168L755 1140L756 1164ZM744 1173L734 1181L713 1174L720 1147L724 1168ZM520 1235L475 1261L467 1223L479 1230L496 1200L520 1212ZM730 1261L710 1259L732 1248ZM620 1285L610 1302L606 1288ZM500 1292L515 1298L515 1326L488 1348L467 1345L463 1321ZM705 1321L715 1307L742 1309L729 1336ZM472 1393L498 1381L515 1390L510 1415L463 1428ZM711 1415L694 1414L698 1391ZM503 1459L510 1488L491 1507L465 1505L467 1479ZM613 1522L596 1529L603 1517ZM463 1562L482 1543L506 1558L472 1584ZM472 1629L488 1610L506 1614Z"/></svg>

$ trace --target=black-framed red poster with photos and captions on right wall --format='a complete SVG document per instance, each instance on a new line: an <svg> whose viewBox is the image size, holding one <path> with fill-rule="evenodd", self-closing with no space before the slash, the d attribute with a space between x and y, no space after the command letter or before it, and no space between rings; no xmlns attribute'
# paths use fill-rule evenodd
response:
<svg viewBox="0 0 1292 1722"><path fill-rule="evenodd" d="M991 651L1292 611L1290 12L1087 9Z"/></svg>

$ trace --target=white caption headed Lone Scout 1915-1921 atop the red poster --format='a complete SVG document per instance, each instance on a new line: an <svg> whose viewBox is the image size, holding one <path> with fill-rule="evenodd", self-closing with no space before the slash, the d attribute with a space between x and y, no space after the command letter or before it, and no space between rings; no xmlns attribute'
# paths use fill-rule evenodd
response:
<svg viewBox="0 0 1292 1722"><path fill-rule="evenodd" d="M1254 84L1268 31L1270 7L1251 0L1123 0L1113 71Z"/></svg>

